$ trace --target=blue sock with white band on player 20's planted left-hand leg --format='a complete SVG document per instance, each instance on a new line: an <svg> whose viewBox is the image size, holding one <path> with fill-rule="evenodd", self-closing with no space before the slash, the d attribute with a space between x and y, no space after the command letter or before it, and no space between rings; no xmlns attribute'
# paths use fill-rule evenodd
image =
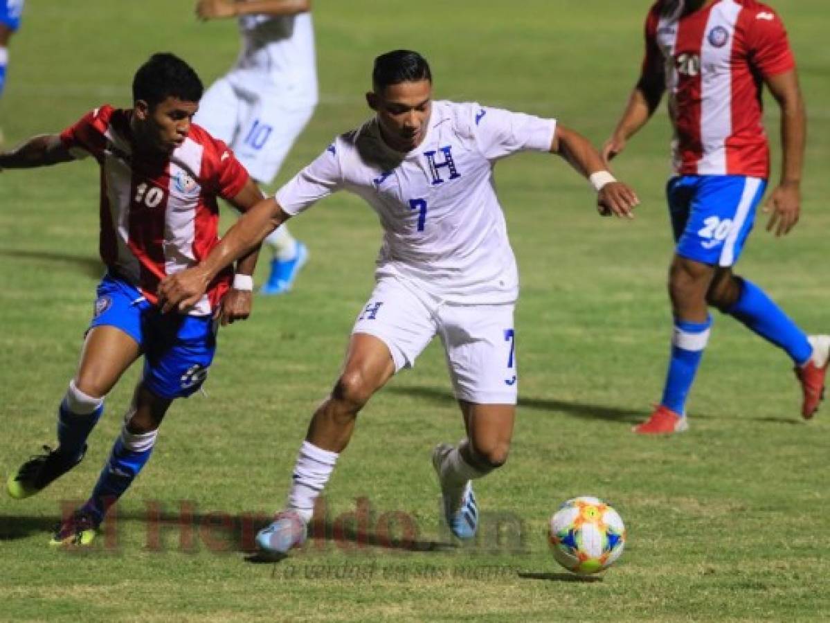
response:
<svg viewBox="0 0 830 623"><path fill-rule="evenodd" d="M712 317L705 323L688 323L675 319L671 336L671 361L666 372L666 385L660 404L680 416L686 415L686 398L695 381L697 367L703 357L703 349L709 341Z"/></svg>

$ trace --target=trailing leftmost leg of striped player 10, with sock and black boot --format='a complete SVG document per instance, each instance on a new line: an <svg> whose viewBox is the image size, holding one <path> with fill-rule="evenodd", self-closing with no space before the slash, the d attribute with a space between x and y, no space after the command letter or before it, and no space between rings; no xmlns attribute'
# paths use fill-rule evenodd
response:
<svg viewBox="0 0 830 623"><path fill-rule="evenodd" d="M104 398L139 357L139 345L120 329L99 326L86 334L81 362L61 401L57 417L58 447L33 456L7 481L15 499L37 494L84 458L86 438L104 411Z"/></svg>

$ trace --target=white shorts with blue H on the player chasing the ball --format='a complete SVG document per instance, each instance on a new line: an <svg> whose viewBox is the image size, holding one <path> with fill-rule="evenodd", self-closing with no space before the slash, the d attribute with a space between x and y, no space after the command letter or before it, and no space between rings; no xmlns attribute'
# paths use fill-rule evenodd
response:
<svg viewBox="0 0 830 623"><path fill-rule="evenodd" d="M412 367L437 334L444 345L456 398L476 404L515 405L515 304L447 304L384 278L354 323L352 333L383 340L395 371Z"/></svg>

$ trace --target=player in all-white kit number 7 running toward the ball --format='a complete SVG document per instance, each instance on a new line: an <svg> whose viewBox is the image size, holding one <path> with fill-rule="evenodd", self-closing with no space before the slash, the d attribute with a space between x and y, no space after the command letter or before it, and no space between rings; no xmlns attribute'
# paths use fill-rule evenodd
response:
<svg viewBox="0 0 830 623"><path fill-rule="evenodd" d="M267 552L305 541L315 499L349 444L358 412L393 375L412 367L436 335L447 357L465 436L439 444L432 465L447 525L473 538L471 480L500 468L513 436L518 377L513 315L519 275L496 196L496 163L512 153L559 153L590 176L601 211L631 216L637 197L603 170L588 140L554 119L473 103L432 102L432 73L417 52L378 56L375 111L341 134L276 196L223 237L207 260L161 285L165 307L187 309L203 284L275 226L339 190L378 213L383 246L375 288L352 329L340 377L311 418L286 510L257 536Z"/></svg>

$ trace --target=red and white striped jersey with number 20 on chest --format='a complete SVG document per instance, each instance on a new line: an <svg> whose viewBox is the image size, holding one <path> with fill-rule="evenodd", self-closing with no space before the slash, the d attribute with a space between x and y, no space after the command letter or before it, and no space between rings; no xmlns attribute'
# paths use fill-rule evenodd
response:
<svg viewBox="0 0 830 623"><path fill-rule="evenodd" d="M643 75L665 75L682 175L769 178L761 108L763 79L795 66L779 16L755 0L716 0L664 15L657 0L646 21Z"/></svg>

